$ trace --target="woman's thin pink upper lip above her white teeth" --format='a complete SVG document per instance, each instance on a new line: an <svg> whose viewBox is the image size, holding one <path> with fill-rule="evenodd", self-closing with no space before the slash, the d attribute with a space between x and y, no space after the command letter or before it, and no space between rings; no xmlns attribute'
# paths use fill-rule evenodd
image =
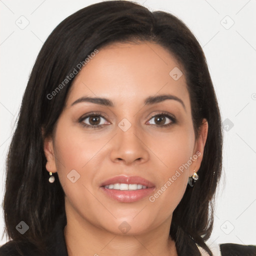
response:
<svg viewBox="0 0 256 256"><path fill-rule="evenodd" d="M115 184L115 183L124 183L124 184L141 184L147 187L153 187L155 186L152 182L149 180L139 177L139 176L125 176L125 175L120 175L120 176L115 176L111 177L101 183L100 186L105 186L109 184Z"/></svg>

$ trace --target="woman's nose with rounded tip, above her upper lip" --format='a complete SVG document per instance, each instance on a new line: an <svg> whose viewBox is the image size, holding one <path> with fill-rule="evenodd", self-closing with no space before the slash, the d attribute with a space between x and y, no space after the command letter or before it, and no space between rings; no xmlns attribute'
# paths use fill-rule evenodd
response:
<svg viewBox="0 0 256 256"><path fill-rule="evenodd" d="M112 141L110 158L113 162L123 162L126 165L143 163L149 159L145 136L138 132L135 125L131 125L126 131L117 131Z"/></svg>

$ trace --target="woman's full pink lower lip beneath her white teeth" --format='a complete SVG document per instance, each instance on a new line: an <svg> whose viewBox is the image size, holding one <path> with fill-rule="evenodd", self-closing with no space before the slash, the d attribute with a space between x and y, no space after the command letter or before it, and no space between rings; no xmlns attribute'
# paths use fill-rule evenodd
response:
<svg viewBox="0 0 256 256"><path fill-rule="evenodd" d="M108 189L103 186L100 187L103 192L120 202L135 202L138 201L146 196L149 196L152 191L154 190L154 187L147 187L147 188L141 188L137 190L118 190L118 189Z"/></svg>

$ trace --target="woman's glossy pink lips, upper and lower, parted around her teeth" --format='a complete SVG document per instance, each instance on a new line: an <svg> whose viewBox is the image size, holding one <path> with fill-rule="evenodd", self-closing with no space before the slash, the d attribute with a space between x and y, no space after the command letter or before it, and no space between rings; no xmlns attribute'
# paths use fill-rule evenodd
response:
<svg viewBox="0 0 256 256"><path fill-rule="evenodd" d="M136 190L127 190L127 189L113 189L108 188L112 187L113 184L139 184L140 189ZM127 187L127 186L126 186ZM149 196L155 189L155 185L147 179L144 179L139 176L116 176L109 178L100 184L100 189L109 198L117 200L119 202L135 202L146 196Z"/></svg>

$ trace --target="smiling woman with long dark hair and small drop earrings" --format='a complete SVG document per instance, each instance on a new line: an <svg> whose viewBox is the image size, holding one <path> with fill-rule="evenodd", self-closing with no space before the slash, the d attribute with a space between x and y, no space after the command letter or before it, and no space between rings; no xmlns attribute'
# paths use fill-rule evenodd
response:
<svg viewBox="0 0 256 256"><path fill-rule="evenodd" d="M189 29L128 1L83 8L29 77L7 159L13 240L0 255L212 255L221 153Z"/></svg>

